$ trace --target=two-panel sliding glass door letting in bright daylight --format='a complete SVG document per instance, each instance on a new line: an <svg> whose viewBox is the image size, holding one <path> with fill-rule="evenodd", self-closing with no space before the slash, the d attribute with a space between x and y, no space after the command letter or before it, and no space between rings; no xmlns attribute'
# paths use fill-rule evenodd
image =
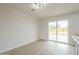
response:
<svg viewBox="0 0 79 59"><path fill-rule="evenodd" d="M68 20L49 22L49 40L68 43Z"/></svg>

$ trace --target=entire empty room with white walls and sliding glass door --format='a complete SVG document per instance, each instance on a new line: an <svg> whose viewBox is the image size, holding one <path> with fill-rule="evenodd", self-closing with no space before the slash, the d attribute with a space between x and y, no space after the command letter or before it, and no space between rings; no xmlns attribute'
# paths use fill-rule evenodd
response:
<svg viewBox="0 0 79 59"><path fill-rule="evenodd" d="M0 3L0 55L79 55L79 3Z"/></svg>

